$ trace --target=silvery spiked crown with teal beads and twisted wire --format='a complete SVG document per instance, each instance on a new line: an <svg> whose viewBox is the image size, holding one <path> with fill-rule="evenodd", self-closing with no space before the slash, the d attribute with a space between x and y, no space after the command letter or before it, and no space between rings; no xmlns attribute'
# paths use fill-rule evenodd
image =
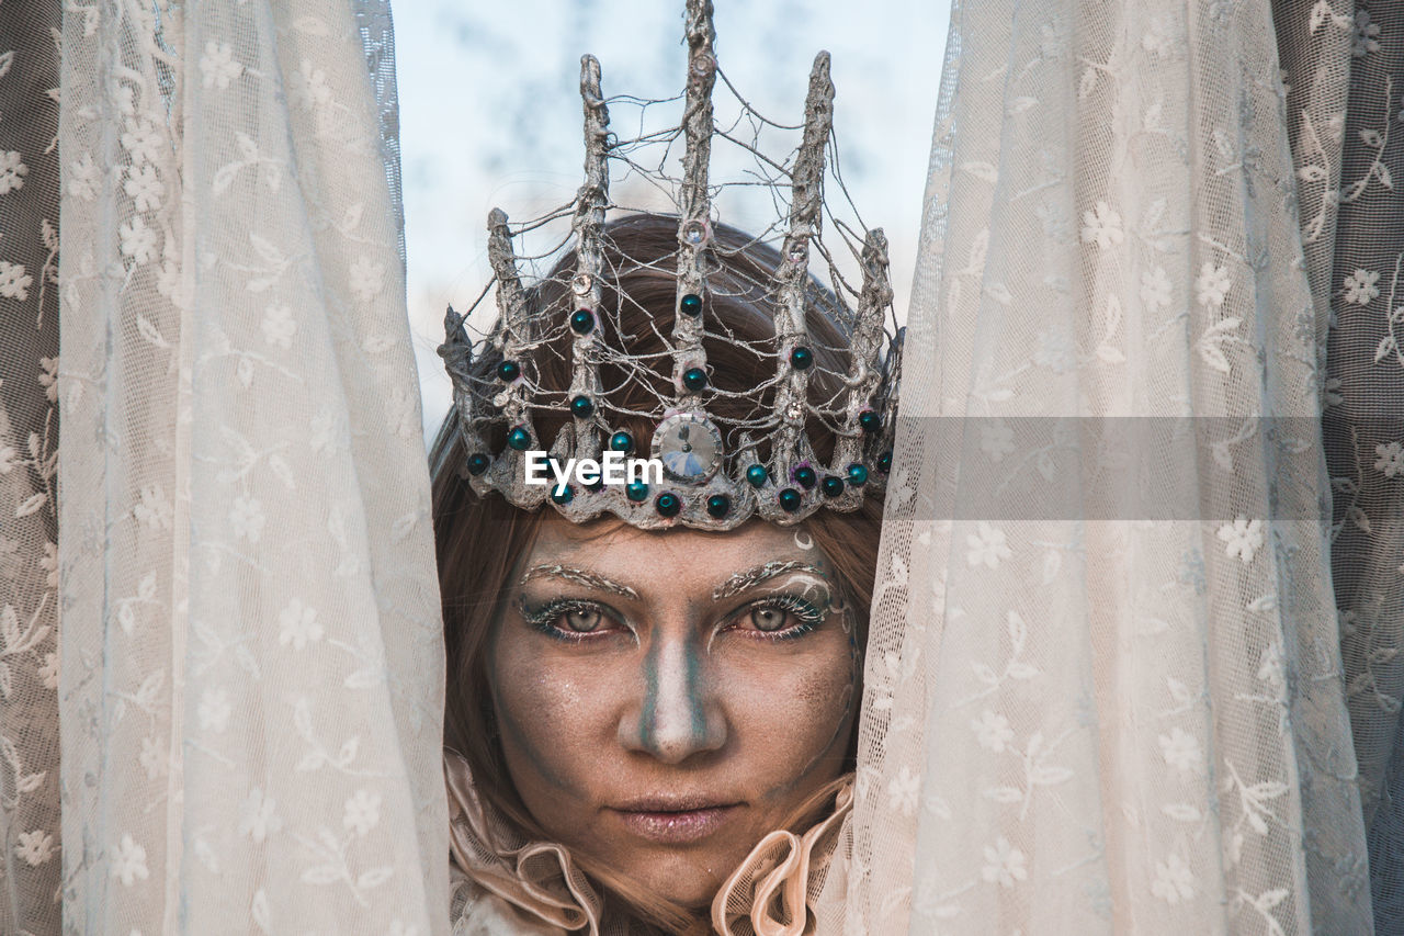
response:
<svg viewBox="0 0 1404 936"><path fill-rule="evenodd" d="M779 263L771 281L761 284L776 308L775 377L754 391L757 399L764 394L769 401L765 416L724 436L708 410L712 386L703 350L703 337L717 339L717 332L709 329L705 299L709 271L717 267L717 222L708 173L713 138L722 134L712 111L719 67L710 0L688 0L685 24L688 79L682 125L677 128L685 152L674 191L677 297L665 342L673 381L671 392L660 395L657 410L647 415L651 438L644 448L644 440L621 429L625 410L611 408L601 379L604 363L626 371L646 363L608 349L602 340L604 294L609 285L609 160L619 157L612 156L619 143L608 131L600 63L587 55L580 73L585 183L570 208L576 263L566 273L567 302L534 308L532 292L518 271L507 215L494 208L489 215L489 261L497 284L498 319L475 344L465 327L466 316L452 308L445 316L446 340L438 353L453 384L465 476L480 496L497 490L526 510L549 502L574 523L614 514L646 530L729 530L753 516L788 526L821 507L856 510L866 492L883 488L892 468L904 330L889 334L885 327L893 292L882 229L868 230L861 249L845 230L862 271L861 288L848 290L856 302L834 291L833 305L842 318L838 327L847 339L847 372L828 375L838 392L827 402L812 399L810 379L819 370L819 356L806 325L806 304L814 294L809 264L816 254L830 259L820 236L824 157L834 115L828 53L820 52L810 72L797 150L783 164L761 157L775 169L778 184L788 180L789 187L788 219L776 222L783 228ZM532 351L552 336L570 344L566 394L546 392L529 367ZM545 450L536 424L548 413L564 423ZM816 419L835 440L827 462L816 455L806 433L806 424ZM490 440L505 444L493 446Z"/></svg>

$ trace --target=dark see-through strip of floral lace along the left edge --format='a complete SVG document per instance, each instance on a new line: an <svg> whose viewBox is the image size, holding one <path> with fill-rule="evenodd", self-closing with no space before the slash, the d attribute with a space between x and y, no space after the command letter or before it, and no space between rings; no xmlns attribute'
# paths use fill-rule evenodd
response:
<svg viewBox="0 0 1404 936"><path fill-rule="evenodd" d="M0 4L0 932L59 932L59 6Z"/></svg>

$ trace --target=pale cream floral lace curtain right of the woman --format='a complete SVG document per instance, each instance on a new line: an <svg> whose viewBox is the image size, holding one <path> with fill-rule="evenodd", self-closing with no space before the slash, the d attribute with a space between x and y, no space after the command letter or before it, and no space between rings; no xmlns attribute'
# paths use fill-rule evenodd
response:
<svg viewBox="0 0 1404 936"><path fill-rule="evenodd" d="M1370 932L1272 27L953 8L820 932Z"/></svg>

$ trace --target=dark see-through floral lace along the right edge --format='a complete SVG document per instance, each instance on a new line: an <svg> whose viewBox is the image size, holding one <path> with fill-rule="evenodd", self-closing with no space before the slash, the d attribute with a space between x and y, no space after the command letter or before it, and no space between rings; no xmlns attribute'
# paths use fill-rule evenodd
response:
<svg viewBox="0 0 1404 936"><path fill-rule="evenodd" d="M1404 197L1396 178L1404 178L1404 8L1338 3L1327 15L1290 3L1276 4L1275 15L1292 86L1287 126L1307 271L1331 325L1323 412L1331 573L1375 923L1376 933L1397 935L1404 933ZM1348 53L1327 53L1318 37Z"/></svg>

